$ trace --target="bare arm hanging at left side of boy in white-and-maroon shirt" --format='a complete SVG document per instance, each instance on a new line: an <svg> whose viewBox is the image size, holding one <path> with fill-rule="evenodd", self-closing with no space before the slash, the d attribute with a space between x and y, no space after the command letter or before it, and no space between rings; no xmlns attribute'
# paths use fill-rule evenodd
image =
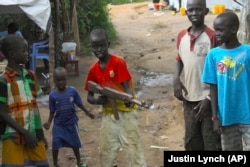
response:
<svg viewBox="0 0 250 167"><path fill-rule="evenodd" d="M176 70L173 78L173 86L174 86L174 96L181 101L184 100L182 91L184 91L185 95L188 94L186 87L180 80L180 75L182 70L183 70L183 63L181 60L179 60L176 62Z"/></svg>

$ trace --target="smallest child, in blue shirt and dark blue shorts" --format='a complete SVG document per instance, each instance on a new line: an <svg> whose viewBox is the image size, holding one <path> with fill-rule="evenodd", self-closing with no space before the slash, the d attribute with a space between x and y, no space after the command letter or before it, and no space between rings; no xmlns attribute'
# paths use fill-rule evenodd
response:
<svg viewBox="0 0 250 167"><path fill-rule="evenodd" d="M54 126L52 130L52 150L54 166L58 167L57 158L61 147L72 148L76 156L78 167L80 163L81 141L78 135L78 117L76 115L75 104L82 109L91 119L95 116L89 112L82 103L77 90L72 86L67 86L67 71L63 67L57 67L54 71L54 82L56 89L49 95L50 115L45 129L49 129L52 120Z"/></svg>

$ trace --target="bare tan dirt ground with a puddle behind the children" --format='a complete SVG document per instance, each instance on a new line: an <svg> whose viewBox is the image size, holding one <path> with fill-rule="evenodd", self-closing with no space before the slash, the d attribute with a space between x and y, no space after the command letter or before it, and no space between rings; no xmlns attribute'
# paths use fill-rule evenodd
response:
<svg viewBox="0 0 250 167"><path fill-rule="evenodd" d="M119 41L110 48L110 52L127 60L139 99L151 104L150 109L139 110L139 127L147 165L159 167L163 166L164 150L184 150L182 104L173 96L172 74L175 70L176 36L190 23L186 16L179 13L172 15L169 10L149 10L148 3L110 6L111 19L119 36ZM214 18L215 15L207 15L207 25L211 26ZM80 76L71 76L69 84L79 90L86 106L98 116L91 120L79 112L79 128L83 161L89 167L100 167L98 140L101 106L88 104L86 92L82 88L88 68L94 61L96 59L92 55L82 56ZM49 115L48 105L41 103L40 106L45 122ZM45 133L51 143L51 129ZM48 153L52 165L51 145ZM59 164L62 167L75 166L71 149L60 150ZM118 166L127 167L125 151L122 149Z"/></svg>

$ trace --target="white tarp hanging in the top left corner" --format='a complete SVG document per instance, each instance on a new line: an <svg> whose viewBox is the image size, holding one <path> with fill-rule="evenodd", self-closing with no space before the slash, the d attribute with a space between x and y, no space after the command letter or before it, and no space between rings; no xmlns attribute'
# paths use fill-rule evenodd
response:
<svg viewBox="0 0 250 167"><path fill-rule="evenodd" d="M49 32L52 25L49 0L0 0L1 13L25 13L45 32Z"/></svg>

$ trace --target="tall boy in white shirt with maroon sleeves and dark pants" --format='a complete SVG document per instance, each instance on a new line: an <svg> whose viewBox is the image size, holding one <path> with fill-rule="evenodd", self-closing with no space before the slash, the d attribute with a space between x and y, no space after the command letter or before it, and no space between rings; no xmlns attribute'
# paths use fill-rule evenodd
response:
<svg viewBox="0 0 250 167"><path fill-rule="evenodd" d="M177 38L174 95L183 101L185 150L220 150L220 136L213 131L209 86L201 83L208 50L217 45L215 32L204 24L206 0L187 0L186 14L191 27ZM180 75L184 71L184 83ZM185 93L183 95L183 92Z"/></svg>

